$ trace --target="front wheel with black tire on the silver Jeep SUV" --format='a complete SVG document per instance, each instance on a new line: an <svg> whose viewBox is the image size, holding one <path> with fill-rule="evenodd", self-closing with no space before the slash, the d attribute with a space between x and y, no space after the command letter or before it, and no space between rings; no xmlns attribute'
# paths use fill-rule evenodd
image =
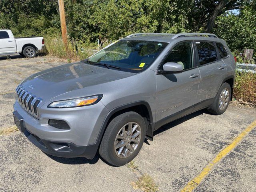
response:
<svg viewBox="0 0 256 192"><path fill-rule="evenodd" d="M129 134L128 128L133 129L134 132ZM108 124L100 144L99 154L113 166L125 165L137 156L144 143L145 135L146 124L142 116L136 112L120 114ZM118 146L121 147L116 148Z"/></svg>

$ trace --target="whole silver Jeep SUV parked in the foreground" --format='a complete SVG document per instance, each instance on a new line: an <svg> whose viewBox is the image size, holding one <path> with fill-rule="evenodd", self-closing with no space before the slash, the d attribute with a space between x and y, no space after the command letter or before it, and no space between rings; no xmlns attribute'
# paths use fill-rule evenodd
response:
<svg viewBox="0 0 256 192"><path fill-rule="evenodd" d="M40 150L122 166L160 126L232 98L235 60L214 34L132 34L16 88L14 120Z"/></svg>

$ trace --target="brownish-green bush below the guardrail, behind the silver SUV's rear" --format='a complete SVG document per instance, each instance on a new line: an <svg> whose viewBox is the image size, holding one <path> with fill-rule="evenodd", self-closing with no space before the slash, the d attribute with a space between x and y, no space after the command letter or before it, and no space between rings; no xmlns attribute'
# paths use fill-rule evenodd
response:
<svg viewBox="0 0 256 192"><path fill-rule="evenodd" d="M236 72L233 97L237 100L256 103L256 74Z"/></svg>

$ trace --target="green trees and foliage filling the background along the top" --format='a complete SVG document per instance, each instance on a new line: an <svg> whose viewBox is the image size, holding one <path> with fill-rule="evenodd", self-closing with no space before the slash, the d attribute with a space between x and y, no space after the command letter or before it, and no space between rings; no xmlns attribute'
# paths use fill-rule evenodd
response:
<svg viewBox="0 0 256 192"><path fill-rule="evenodd" d="M64 0L70 40L104 46L136 32L203 32L218 0ZM227 10L238 9L238 14ZM256 50L256 0L228 1L214 33L233 52ZM60 36L57 0L0 0L0 28L21 36ZM77 46L77 45L76 45ZM256 51L254 51L254 56Z"/></svg>

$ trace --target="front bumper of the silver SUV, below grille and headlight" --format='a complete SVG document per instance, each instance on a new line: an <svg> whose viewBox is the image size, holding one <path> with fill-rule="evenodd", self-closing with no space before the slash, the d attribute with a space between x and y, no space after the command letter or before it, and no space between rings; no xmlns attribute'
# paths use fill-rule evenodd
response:
<svg viewBox="0 0 256 192"><path fill-rule="evenodd" d="M97 137L108 113L101 102L77 110L40 108L40 119L26 112L17 101L14 110L22 117L25 136L43 152L53 156L88 159L92 159L98 150L100 140ZM65 120L70 129L50 126L49 119Z"/></svg>

